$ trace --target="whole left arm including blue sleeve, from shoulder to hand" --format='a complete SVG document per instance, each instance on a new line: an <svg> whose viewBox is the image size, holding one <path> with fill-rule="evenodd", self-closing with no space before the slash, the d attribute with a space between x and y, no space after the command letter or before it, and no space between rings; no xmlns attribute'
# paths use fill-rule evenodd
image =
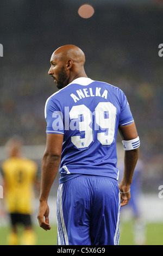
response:
<svg viewBox="0 0 163 256"><path fill-rule="evenodd" d="M54 125L57 117L57 123L59 122L59 126ZM39 220L41 228L49 230L51 227L49 225L49 208L47 200L60 166L62 143L64 139L62 113L59 109L59 102L57 99L53 99L53 97L49 97L46 101L45 119L47 122L47 137L46 149L41 163L40 206L37 219Z"/></svg>

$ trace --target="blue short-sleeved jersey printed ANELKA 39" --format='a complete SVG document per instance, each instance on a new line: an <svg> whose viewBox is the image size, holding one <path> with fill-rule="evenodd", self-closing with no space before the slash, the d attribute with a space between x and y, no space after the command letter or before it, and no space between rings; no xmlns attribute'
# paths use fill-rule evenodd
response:
<svg viewBox="0 0 163 256"><path fill-rule="evenodd" d="M45 118L47 133L64 135L60 183L82 174L118 179L118 126L134 121L120 88L77 78L47 99Z"/></svg>

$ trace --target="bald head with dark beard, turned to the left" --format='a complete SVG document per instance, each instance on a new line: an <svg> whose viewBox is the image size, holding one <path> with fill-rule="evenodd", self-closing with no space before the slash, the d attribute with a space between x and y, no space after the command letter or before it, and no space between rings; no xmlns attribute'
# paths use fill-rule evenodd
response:
<svg viewBox="0 0 163 256"><path fill-rule="evenodd" d="M59 89L78 77L87 77L84 70L85 54L76 45L64 45L55 50L51 57L52 76Z"/></svg>

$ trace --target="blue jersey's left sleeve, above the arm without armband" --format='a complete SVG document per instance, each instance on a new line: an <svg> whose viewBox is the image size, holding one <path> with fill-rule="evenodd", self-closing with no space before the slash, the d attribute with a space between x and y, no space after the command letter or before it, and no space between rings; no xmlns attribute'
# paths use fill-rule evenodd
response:
<svg viewBox="0 0 163 256"><path fill-rule="evenodd" d="M46 133L64 134L63 114L57 101L49 98L45 105Z"/></svg>

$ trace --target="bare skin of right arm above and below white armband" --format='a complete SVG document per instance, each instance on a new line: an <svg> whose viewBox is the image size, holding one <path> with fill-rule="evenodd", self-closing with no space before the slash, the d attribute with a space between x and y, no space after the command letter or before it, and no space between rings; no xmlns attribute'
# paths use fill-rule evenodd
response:
<svg viewBox="0 0 163 256"><path fill-rule="evenodd" d="M137 135L137 130L135 123L131 123L126 126L119 127L120 135L122 140L130 141L130 139L135 139ZM124 151L124 173L121 183L119 184L119 189L121 192L127 192L130 190L130 185L133 179L134 169L139 156L139 148ZM121 194L121 206L127 205L131 198L130 192Z"/></svg>

